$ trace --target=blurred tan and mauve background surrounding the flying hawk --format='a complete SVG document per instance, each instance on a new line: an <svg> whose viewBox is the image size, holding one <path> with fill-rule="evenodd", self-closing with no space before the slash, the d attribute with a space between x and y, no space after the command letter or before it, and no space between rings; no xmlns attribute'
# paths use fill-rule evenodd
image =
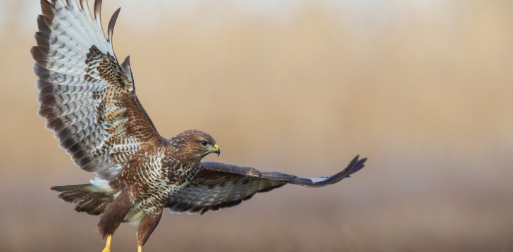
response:
<svg viewBox="0 0 513 252"><path fill-rule="evenodd" d="M98 217L49 191L93 175L36 114L35 2L0 2L0 250L101 251ZM105 1L104 23L118 6L114 49L163 136L305 177L369 158L330 187L164 213L144 251L513 251L513 1Z"/></svg>

